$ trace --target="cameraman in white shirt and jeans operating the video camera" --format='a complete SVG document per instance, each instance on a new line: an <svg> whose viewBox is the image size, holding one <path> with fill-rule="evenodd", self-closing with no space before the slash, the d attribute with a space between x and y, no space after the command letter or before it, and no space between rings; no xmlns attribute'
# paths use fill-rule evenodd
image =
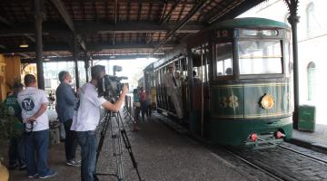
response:
<svg viewBox="0 0 327 181"><path fill-rule="evenodd" d="M92 80L85 83L79 90L79 100L74 109L71 129L76 131L77 141L82 148L81 178L84 181L98 180L94 173L97 147L95 129L100 120L100 107L117 112L120 110L128 91L124 87L119 99L114 104L105 100L104 97L99 97L97 85L104 78L104 75L104 66L95 65L91 68Z"/></svg>

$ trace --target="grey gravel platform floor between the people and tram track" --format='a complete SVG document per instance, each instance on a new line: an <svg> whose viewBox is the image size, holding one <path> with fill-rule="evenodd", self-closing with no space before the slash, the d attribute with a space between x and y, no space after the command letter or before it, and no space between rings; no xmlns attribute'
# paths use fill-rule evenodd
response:
<svg viewBox="0 0 327 181"><path fill-rule="evenodd" d="M104 139L104 148L100 154L97 172L115 173L111 131ZM130 131L126 127L131 141L134 157L138 163L141 177L154 181L213 181L213 180L247 180L236 172L234 167L223 158L215 156L193 140L168 129L155 118L141 123L140 130ZM0 154L6 156L5 143L0 143ZM124 146L124 144L123 144ZM79 151L78 151L79 154ZM6 162L5 162L6 163ZM127 150L123 151L125 180L138 180ZM47 180L80 180L78 167L64 165L64 144L50 148L49 164L58 171L58 175ZM31 180L25 177L25 171L10 172L11 180ZM114 176L100 176L100 180L117 180Z"/></svg>

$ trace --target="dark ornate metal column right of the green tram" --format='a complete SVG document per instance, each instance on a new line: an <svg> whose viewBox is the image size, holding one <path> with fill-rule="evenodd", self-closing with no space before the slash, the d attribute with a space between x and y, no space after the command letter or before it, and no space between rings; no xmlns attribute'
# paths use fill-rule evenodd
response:
<svg viewBox="0 0 327 181"><path fill-rule="evenodd" d="M299 66L298 66L298 40L297 40L297 24L300 16L297 15L298 0L284 0L289 8L289 23L292 25L292 57L293 57L293 89L294 89L294 112L293 112L293 128L297 129L298 110L299 110Z"/></svg>

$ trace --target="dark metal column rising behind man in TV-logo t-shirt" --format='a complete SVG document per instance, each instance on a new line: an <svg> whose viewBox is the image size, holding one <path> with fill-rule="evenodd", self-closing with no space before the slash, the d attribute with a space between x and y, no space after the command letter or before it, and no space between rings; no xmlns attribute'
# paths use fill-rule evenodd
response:
<svg viewBox="0 0 327 181"><path fill-rule="evenodd" d="M42 12L43 0L35 0L35 59L37 70L37 85L41 90L45 90L45 76L43 68L43 43L42 43L42 23L45 14Z"/></svg>

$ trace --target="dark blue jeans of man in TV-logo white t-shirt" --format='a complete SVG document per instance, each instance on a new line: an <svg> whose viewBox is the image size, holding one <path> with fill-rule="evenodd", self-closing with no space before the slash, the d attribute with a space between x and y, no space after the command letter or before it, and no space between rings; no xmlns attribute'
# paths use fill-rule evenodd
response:
<svg viewBox="0 0 327 181"><path fill-rule="evenodd" d="M27 175L46 176L51 172L47 164L49 129L25 133Z"/></svg>

